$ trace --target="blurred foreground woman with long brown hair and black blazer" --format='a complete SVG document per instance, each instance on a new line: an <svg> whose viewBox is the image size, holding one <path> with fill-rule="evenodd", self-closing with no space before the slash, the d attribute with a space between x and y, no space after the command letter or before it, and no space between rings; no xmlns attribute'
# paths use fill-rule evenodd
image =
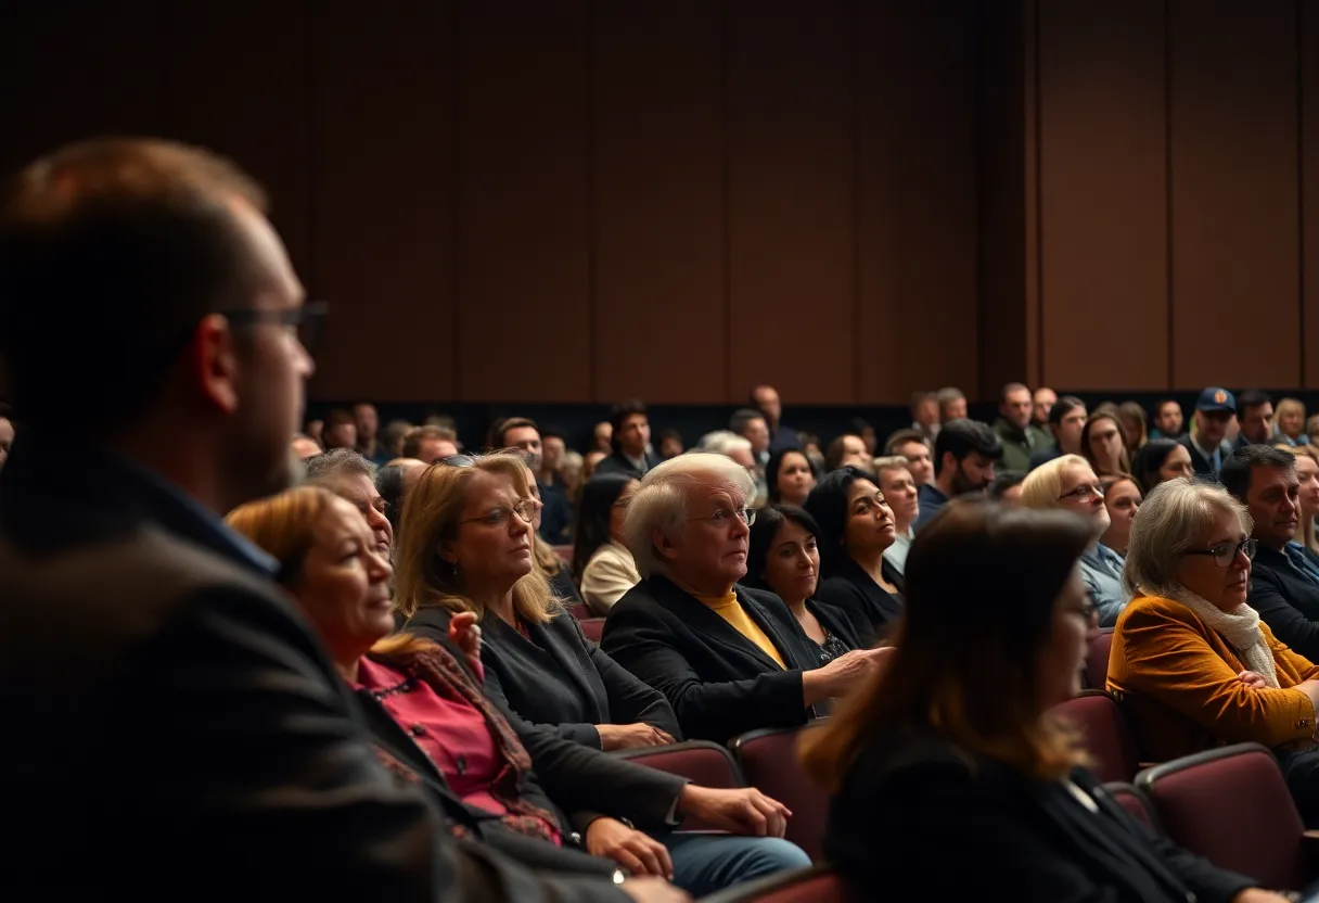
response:
<svg viewBox="0 0 1319 903"><path fill-rule="evenodd" d="M886 899L1281 903L1137 822L1050 709L1096 630L1066 511L951 502L915 536L897 651L806 741L824 849ZM967 574L995 574L968 590ZM948 867L951 861L956 867Z"/></svg>

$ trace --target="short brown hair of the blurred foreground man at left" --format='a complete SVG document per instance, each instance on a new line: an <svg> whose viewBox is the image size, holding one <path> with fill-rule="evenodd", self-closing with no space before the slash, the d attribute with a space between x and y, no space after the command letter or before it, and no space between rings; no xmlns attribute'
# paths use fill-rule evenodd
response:
<svg viewBox="0 0 1319 903"><path fill-rule="evenodd" d="M190 330L240 305L256 273L235 202L265 195L233 164L149 139L71 144L0 203L0 356L28 422L106 429L156 400ZM59 352L54 354L58 346Z"/></svg>

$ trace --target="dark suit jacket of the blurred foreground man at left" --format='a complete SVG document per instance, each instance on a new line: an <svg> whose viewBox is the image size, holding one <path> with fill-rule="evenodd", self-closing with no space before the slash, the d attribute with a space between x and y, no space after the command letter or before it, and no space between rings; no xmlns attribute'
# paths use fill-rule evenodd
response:
<svg viewBox="0 0 1319 903"><path fill-rule="evenodd" d="M30 742L0 751L22 826L0 898L624 899L455 842L261 558L87 437L24 430L0 471L0 685Z"/></svg>

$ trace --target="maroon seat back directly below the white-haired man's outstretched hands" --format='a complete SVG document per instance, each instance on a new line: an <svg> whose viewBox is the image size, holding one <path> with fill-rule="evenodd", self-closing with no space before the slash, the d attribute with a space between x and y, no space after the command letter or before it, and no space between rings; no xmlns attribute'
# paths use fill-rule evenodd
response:
<svg viewBox="0 0 1319 903"><path fill-rule="evenodd" d="M803 730L815 727L753 730L733 738L728 746L747 784L793 811L793 817L787 820L787 840L801 846L813 862L819 862L823 858L828 793L807 778L797 760L797 742Z"/></svg>

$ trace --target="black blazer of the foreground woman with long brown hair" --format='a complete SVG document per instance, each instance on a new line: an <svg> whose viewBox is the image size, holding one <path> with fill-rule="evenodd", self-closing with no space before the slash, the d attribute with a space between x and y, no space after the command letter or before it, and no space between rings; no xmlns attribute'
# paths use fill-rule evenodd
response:
<svg viewBox="0 0 1319 903"><path fill-rule="evenodd" d="M1228 903L1256 886L1148 830L1088 772L1072 780L1097 813L1060 782L1029 779L933 734L885 735L834 797L824 853L852 885L894 900L1186 903L1194 892Z"/></svg>

